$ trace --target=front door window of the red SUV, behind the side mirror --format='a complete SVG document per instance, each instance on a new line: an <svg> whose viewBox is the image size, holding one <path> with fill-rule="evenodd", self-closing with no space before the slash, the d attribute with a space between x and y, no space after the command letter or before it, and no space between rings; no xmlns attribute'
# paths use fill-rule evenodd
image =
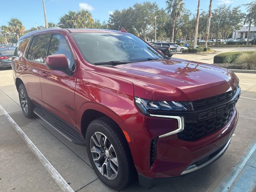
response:
<svg viewBox="0 0 256 192"><path fill-rule="evenodd" d="M68 59L68 67L70 70L75 69L74 58L72 56L72 52L66 42L65 38L60 34L53 34L52 40L50 43L49 54L48 55L56 55L56 54L64 54Z"/></svg>

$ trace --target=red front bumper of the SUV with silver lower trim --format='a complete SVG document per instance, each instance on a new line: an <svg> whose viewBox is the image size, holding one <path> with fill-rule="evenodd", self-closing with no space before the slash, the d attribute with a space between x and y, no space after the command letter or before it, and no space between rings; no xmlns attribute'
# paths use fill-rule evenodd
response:
<svg viewBox="0 0 256 192"><path fill-rule="evenodd" d="M192 141L181 140L177 134L158 137L166 130L178 128L178 121L175 119L154 118L136 113L120 126L130 135L131 142L128 144L141 184L145 185L145 179L141 178L146 178L148 183L152 180L154 185L154 180L163 182L170 177L194 172L218 159L228 147L237 120L238 112L234 109L225 126ZM154 138L158 138L156 160L150 164L150 147Z"/></svg>

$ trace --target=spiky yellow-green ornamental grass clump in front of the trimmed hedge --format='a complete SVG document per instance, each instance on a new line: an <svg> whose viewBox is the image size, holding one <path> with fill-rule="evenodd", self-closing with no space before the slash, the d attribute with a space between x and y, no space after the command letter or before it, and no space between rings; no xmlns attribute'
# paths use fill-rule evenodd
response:
<svg viewBox="0 0 256 192"><path fill-rule="evenodd" d="M234 64L241 66L242 69L256 70L256 52L240 54L234 60Z"/></svg>

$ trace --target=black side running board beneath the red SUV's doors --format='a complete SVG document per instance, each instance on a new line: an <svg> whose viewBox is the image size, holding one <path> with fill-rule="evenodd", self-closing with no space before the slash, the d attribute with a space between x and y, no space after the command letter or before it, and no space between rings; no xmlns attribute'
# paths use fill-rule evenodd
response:
<svg viewBox="0 0 256 192"><path fill-rule="evenodd" d="M34 113L74 144L85 145L84 138L82 138L77 130L56 115L40 106L34 108Z"/></svg>

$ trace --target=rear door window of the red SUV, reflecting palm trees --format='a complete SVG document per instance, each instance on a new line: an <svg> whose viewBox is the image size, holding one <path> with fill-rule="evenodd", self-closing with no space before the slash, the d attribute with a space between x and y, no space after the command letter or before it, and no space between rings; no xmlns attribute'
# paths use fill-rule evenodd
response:
<svg viewBox="0 0 256 192"><path fill-rule="evenodd" d="M44 63L50 43L50 38L51 34L35 36L31 48L30 60Z"/></svg>

